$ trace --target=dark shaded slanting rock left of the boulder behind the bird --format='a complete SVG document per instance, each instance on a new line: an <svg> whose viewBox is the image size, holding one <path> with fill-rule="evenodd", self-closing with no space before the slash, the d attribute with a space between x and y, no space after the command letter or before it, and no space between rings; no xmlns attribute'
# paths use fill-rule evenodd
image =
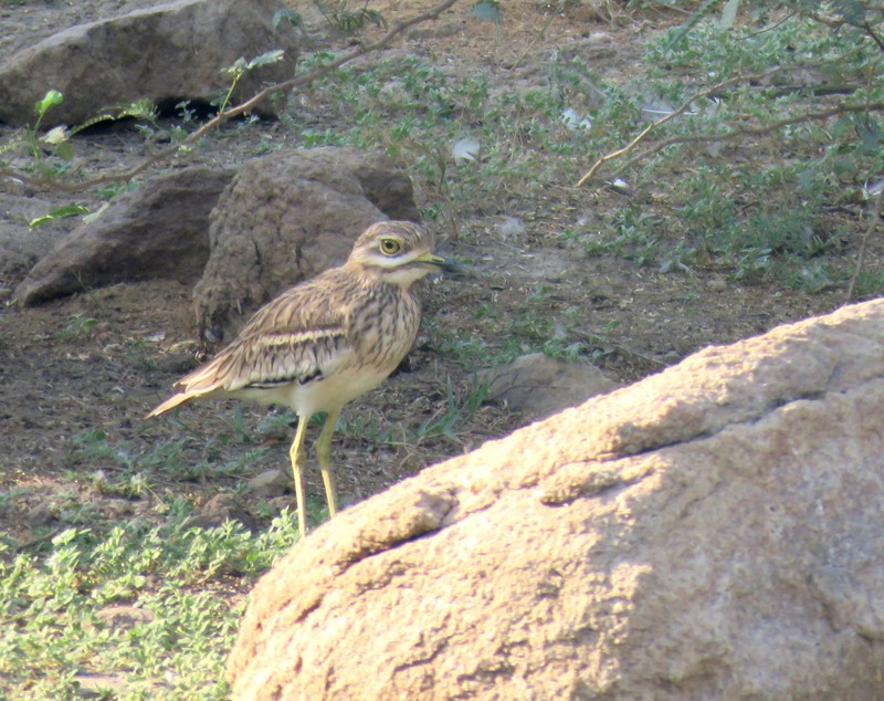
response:
<svg viewBox="0 0 884 701"><path fill-rule="evenodd" d="M19 284L15 299L38 304L156 278L194 282L209 258L209 213L232 178L229 169L194 166L147 180L64 238Z"/></svg>

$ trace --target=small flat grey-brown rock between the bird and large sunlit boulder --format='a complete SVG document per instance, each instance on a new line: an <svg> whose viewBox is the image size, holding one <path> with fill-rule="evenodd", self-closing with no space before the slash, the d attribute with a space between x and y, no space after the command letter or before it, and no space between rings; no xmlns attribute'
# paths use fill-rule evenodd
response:
<svg viewBox="0 0 884 701"><path fill-rule="evenodd" d="M597 367L554 360L543 353L523 355L483 373L481 379L488 385L488 399L505 401L530 419L545 418L617 387Z"/></svg>

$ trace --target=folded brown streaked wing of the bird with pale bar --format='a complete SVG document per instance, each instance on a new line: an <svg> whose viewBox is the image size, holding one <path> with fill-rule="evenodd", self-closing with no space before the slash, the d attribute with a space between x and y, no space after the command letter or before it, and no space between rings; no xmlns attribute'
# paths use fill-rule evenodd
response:
<svg viewBox="0 0 884 701"><path fill-rule="evenodd" d="M307 383L334 372L352 354L349 310L338 271L292 287L263 306L211 363L176 384L196 397L245 387Z"/></svg>

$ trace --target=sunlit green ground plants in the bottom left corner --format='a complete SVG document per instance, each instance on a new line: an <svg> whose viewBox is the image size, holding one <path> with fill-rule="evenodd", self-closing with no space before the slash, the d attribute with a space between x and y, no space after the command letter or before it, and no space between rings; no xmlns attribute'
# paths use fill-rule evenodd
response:
<svg viewBox="0 0 884 701"><path fill-rule="evenodd" d="M0 534L0 695L74 698L78 676L116 679L107 698L223 699L224 659L246 590L297 538L287 511L263 533L191 524L178 500L160 525L67 529L18 551ZM127 605L130 626L102 611Z"/></svg>

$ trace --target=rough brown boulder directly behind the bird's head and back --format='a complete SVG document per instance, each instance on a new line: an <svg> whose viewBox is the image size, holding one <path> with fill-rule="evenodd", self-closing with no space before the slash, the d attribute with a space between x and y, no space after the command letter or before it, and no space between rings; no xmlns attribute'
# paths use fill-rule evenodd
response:
<svg viewBox="0 0 884 701"><path fill-rule="evenodd" d="M245 311L339 265L376 221L417 216L408 175L382 154L328 147L246 161L212 212L193 292L201 336L220 342Z"/></svg>

